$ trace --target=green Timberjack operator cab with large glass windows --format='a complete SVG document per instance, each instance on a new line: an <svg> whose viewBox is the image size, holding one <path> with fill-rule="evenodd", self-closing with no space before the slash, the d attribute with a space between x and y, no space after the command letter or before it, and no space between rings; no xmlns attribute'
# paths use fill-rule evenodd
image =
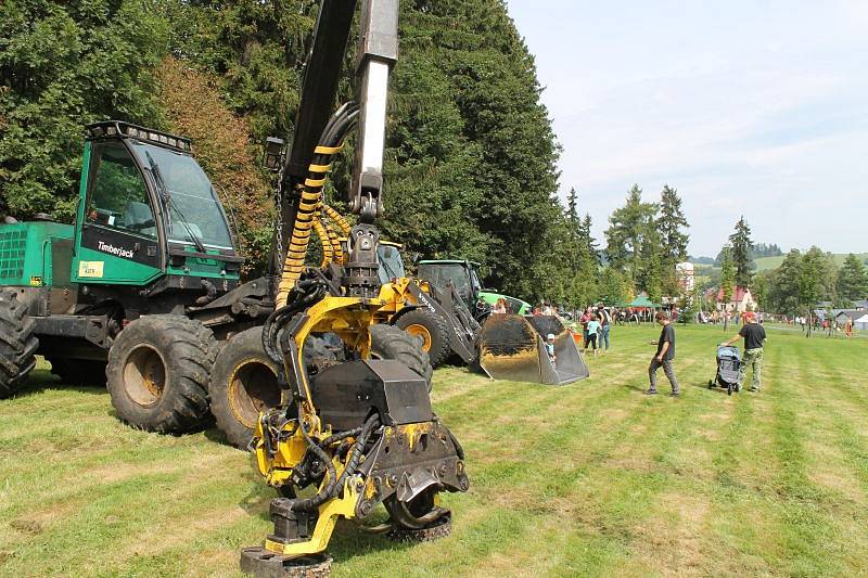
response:
<svg viewBox="0 0 868 578"><path fill-rule="evenodd" d="M87 127L73 281L145 285L163 275L237 281L240 261L222 206L191 156L189 140L114 120Z"/></svg>

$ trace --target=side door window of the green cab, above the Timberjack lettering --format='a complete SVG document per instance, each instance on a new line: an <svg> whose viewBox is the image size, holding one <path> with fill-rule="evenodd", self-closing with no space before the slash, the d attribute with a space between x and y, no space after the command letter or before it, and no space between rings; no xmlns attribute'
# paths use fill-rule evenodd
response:
<svg viewBox="0 0 868 578"><path fill-rule="evenodd" d="M95 151L86 222L156 239L156 219L144 180L123 144L104 143Z"/></svg>

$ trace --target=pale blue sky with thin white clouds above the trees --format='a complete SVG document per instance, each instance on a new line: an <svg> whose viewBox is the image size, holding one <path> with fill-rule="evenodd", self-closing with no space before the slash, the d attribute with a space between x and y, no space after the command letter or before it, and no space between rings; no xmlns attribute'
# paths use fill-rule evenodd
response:
<svg viewBox="0 0 868 578"><path fill-rule="evenodd" d="M755 242L868 251L868 1L507 2L599 239L668 183L692 255L742 213Z"/></svg>

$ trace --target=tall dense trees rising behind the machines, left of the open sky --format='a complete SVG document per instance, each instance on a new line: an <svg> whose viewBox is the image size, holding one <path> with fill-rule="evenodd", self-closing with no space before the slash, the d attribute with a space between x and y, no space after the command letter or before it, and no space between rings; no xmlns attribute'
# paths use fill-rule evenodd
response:
<svg viewBox="0 0 868 578"><path fill-rule="evenodd" d="M0 3L0 216L71 222L82 127L118 118L194 138L234 216L247 273L270 252L267 136L290 141L318 4L306 0L7 0ZM464 257L528 299L560 293L566 229L559 146L534 57L502 0L400 4L383 236ZM340 99L354 93L354 46ZM352 143L350 143L352 145ZM341 206L345 151L327 193Z"/></svg>

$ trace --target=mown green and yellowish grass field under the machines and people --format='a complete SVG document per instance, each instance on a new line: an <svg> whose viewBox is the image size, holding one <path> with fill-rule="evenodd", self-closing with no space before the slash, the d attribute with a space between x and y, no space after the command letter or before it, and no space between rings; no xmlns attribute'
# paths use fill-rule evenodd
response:
<svg viewBox="0 0 868 578"><path fill-rule="evenodd" d="M566 387L438 371L472 484L445 498L452 535L395 544L340 524L333 575L868 573L868 341L770 331L764 390L727 397L706 388L722 329L677 333L680 399L641 395L653 327L615 327ZM246 454L213 431L126 427L104 389L33 381L0 401L0 574L238 573L273 496Z"/></svg>

